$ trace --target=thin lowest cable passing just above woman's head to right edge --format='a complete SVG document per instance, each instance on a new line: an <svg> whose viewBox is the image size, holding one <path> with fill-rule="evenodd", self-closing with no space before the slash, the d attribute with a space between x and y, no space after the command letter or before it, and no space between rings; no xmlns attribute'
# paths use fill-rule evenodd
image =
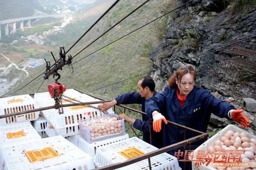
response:
<svg viewBox="0 0 256 170"><path fill-rule="evenodd" d="M233 42L233 43L230 43L230 44L227 44L227 45L224 45L224 46L218 47L218 48L216 48L216 49L214 49L214 50L210 50L210 51L204 52L204 53L202 53L202 54L199 54L199 55L196 55L196 56L193 56L193 57L187 58L187 59L180 60L180 61L178 61L178 62L182 62L182 61L185 61L185 60L189 60L189 59L191 59L191 58L199 57L199 56L204 55L204 54L206 54L206 53L214 52L214 51L219 50L219 49L221 49L221 48L224 48L224 47L230 46L230 45L232 45L232 44L236 44L236 43L239 43L239 42L245 41L245 40L247 40L247 39L255 38L255 37L256 37L256 35L251 36L251 37L248 37L248 38L245 38L245 39L242 39L242 40L240 40L240 41L236 41L236 42ZM204 57L202 57L202 58L204 58ZM173 64L176 64L176 63L178 63L178 62L175 62L175 63L173 63ZM100 88L97 88L97 89L91 90L91 91L89 91L89 92L93 92L93 91L96 91L96 90L99 90L99 89L102 89L102 88L106 88L106 87L109 87L109 86L112 86L112 85L115 85L115 84L118 84L118 83L121 83L121 82L124 82L124 81L130 80L130 79L133 79L133 78L136 78L136 77L139 77L139 76L142 76L142 75L148 74L148 73L150 73L150 72L156 71L156 70L158 70L158 69L161 69L161 68L164 68L164 67L167 67L167 66L173 65L173 64L168 64L168 65L165 65L165 66L159 67L159 68L154 69L154 70L151 70L151 71L143 72L142 74L139 74L139 75L133 76L133 77L131 77L131 78L124 79L124 80L122 80L122 81L119 81L119 82L116 82L116 83L113 83L113 84L110 84L110 85L106 85L106 86L103 86L103 87L100 87Z"/></svg>

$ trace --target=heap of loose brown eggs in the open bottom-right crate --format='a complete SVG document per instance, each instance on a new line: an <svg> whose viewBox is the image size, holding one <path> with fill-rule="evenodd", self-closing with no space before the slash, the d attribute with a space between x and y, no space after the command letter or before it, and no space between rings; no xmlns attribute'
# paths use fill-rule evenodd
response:
<svg viewBox="0 0 256 170"><path fill-rule="evenodd" d="M220 150L232 150L238 151L243 150L241 155L241 162L256 162L256 139L248 138L244 132L234 132L229 130L220 137L219 140L214 142L214 146L208 147L209 154L214 154L215 151ZM249 170L256 168L245 168L245 167L217 167L217 169L226 170Z"/></svg>

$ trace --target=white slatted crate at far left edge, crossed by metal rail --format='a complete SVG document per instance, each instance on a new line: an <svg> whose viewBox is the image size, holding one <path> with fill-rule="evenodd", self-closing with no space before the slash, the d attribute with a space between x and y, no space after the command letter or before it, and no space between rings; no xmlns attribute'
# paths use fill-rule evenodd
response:
<svg viewBox="0 0 256 170"><path fill-rule="evenodd" d="M35 100L29 95L16 95L0 99L0 115L35 109ZM39 112L25 113L0 119L0 125L36 120Z"/></svg>

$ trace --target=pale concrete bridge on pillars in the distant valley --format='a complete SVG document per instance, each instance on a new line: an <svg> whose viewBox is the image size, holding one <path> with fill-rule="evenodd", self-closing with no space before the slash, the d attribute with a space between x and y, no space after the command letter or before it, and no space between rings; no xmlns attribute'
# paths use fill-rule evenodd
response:
<svg viewBox="0 0 256 170"><path fill-rule="evenodd" d="M0 21L0 39L2 37L1 27L4 26L4 35L9 35L9 33L16 32L16 23L18 22L18 27L20 30L24 31L24 25L27 27L31 27L31 20L39 19L39 18L47 18L47 17L65 17L67 13L63 14L51 14L51 15L38 15L38 16L28 16L28 17L21 17L21 18L13 18L13 19L6 19ZM11 32L9 31L9 27L12 28Z"/></svg>

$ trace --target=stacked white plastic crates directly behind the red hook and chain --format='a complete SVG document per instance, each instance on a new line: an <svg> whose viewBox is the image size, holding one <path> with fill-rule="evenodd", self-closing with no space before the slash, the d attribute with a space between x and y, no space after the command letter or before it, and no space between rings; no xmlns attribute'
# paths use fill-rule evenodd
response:
<svg viewBox="0 0 256 170"><path fill-rule="evenodd" d="M99 101L94 98L89 98L89 95L81 94L74 89L68 89L65 91L65 95L71 99L68 101L63 100L62 104L70 104L71 102L94 102ZM87 96L87 98L86 98ZM37 104L40 107L52 106L54 105L54 100L50 98L48 93L35 94L34 96ZM40 100L43 98L43 100ZM65 98L64 98L65 99ZM69 102L70 101L70 102ZM98 104L92 105L97 107ZM112 109L109 110L111 113ZM42 111L44 117L48 120L49 126L46 128L46 133L49 136L54 136L56 134L62 136L71 136L79 133L79 120L84 120L86 118L96 118L103 115L103 112L87 107L87 106L72 106L63 108L63 114L59 114L58 110L50 109ZM53 131L54 129L54 131Z"/></svg>

